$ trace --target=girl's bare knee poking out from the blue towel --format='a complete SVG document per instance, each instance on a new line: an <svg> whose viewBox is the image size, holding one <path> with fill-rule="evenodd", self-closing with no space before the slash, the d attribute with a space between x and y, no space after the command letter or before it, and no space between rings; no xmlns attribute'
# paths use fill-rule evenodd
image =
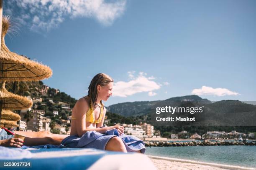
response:
<svg viewBox="0 0 256 170"><path fill-rule="evenodd" d="M105 146L105 150L127 153L125 145L123 144L123 140L119 137L111 138Z"/></svg>

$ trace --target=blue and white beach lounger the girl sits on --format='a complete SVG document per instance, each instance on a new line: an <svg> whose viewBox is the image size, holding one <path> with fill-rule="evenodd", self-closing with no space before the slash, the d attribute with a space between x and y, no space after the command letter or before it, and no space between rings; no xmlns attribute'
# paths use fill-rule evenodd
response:
<svg viewBox="0 0 256 170"><path fill-rule="evenodd" d="M0 147L0 162L3 161L31 163L31 168L19 168L19 170L156 169L151 160L140 153L120 153L92 148L20 149Z"/></svg>

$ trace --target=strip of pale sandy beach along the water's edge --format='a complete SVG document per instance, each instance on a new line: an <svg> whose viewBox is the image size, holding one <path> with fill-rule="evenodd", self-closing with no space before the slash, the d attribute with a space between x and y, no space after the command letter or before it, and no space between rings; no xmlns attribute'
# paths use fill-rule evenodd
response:
<svg viewBox="0 0 256 170"><path fill-rule="evenodd" d="M256 170L233 165L205 163L192 160L148 156L158 170Z"/></svg>

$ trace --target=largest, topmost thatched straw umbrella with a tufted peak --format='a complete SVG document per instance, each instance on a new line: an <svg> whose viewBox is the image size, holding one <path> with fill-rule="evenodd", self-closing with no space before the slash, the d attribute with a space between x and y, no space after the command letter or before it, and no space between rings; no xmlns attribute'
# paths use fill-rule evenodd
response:
<svg viewBox="0 0 256 170"><path fill-rule="evenodd" d="M6 47L4 37L9 27L9 17L3 16L0 81L39 81L51 77L52 70L50 67L11 52L8 47Z"/></svg>

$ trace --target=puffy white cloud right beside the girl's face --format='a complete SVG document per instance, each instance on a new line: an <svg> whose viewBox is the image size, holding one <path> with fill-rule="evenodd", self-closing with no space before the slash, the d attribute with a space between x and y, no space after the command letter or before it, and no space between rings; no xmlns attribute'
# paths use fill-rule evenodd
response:
<svg viewBox="0 0 256 170"><path fill-rule="evenodd" d="M153 90L160 88L160 85L152 80L149 80L148 77L145 77L144 75L140 74L138 77L128 82L114 82L113 96L127 97L139 92L152 92ZM148 93L148 95L150 94L156 95L154 92Z"/></svg>

